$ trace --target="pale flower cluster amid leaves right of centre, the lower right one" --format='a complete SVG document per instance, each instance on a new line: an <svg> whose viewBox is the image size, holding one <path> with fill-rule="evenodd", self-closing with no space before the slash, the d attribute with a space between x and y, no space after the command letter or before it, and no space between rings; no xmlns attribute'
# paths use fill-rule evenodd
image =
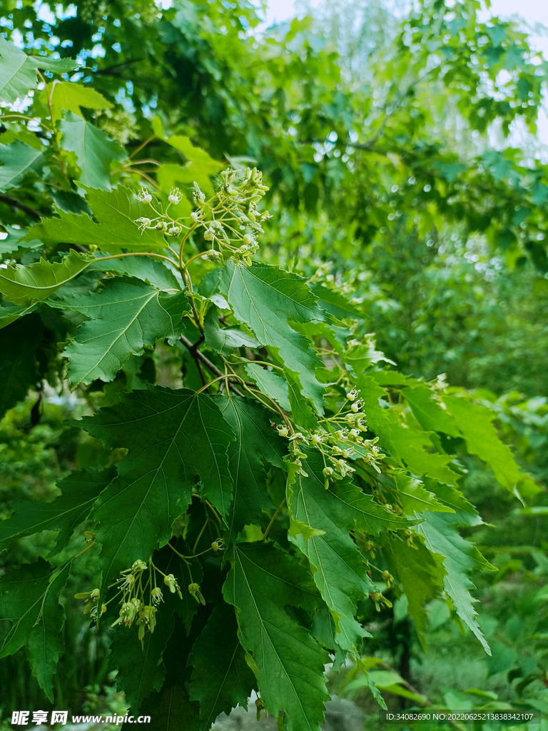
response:
<svg viewBox="0 0 548 731"><path fill-rule="evenodd" d="M307 458L302 445L316 447L324 457L323 470L325 488L329 488L333 480L342 480L355 471L349 464L349 459L361 458L380 472L378 461L384 458L377 446L378 437L364 439L362 431L365 427L365 414L361 411L363 403L358 398L357 390L352 389L346 394L346 401L337 414L321 420L324 428L319 431L306 432L292 431L287 425L279 425L278 433L289 439L289 452L292 462L297 464L302 474L302 460Z"/></svg>

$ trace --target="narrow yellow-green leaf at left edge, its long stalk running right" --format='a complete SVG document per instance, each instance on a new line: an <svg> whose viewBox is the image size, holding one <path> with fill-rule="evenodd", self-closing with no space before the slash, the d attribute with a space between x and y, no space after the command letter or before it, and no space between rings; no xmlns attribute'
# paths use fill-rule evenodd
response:
<svg viewBox="0 0 548 731"><path fill-rule="evenodd" d="M71 249L61 262L40 259L34 264L0 269L0 292L6 300L16 305L45 300L67 281L74 279L93 260L90 254L79 254Z"/></svg>

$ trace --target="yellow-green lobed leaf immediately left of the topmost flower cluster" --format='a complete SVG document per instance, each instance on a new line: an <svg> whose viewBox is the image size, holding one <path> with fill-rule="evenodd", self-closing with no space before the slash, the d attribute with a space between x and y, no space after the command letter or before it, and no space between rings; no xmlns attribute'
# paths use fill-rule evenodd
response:
<svg viewBox="0 0 548 731"><path fill-rule="evenodd" d="M83 186L85 188L85 186ZM109 254L126 251L162 251L166 242L156 229L140 230L135 223L140 218L150 218L151 207L137 200L129 188L95 190L87 188L86 201L94 214L65 213L56 208L58 217L40 219L31 226L26 238L42 241L78 243L81 246L98 246Z"/></svg>

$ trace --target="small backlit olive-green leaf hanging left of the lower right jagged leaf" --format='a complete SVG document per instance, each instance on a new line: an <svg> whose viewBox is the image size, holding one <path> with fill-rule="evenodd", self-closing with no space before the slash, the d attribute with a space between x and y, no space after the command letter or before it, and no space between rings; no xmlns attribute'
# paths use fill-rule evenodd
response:
<svg viewBox="0 0 548 731"><path fill-rule="evenodd" d="M441 594L446 574L443 556L430 553L422 536L416 537L413 545L394 533L384 533L378 540L389 572L402 585L408 613L414 618L416 633L426 650L428 613L425 605Z"/></svg>

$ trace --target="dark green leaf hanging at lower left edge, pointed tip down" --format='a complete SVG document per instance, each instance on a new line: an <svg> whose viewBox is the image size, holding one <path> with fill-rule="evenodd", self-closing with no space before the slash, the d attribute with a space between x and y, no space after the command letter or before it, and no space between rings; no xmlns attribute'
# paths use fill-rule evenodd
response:
<svg viewBox="0 0 548 731"><path fill-rule="evenodd" d="M69 577L70 564L52 573L47 561L23 564L0 578L0 616L12 622L0 658L27 646L39 686L53 703L53 673L64 651L65 613L58 597Z"/></svg>

